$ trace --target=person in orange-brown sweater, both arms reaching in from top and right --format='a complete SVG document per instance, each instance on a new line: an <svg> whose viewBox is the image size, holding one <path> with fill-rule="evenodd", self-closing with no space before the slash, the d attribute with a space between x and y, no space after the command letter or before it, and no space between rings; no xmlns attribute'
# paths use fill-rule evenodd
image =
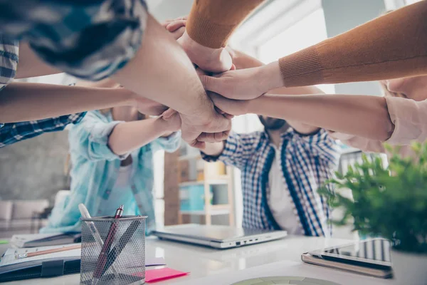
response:
<svg viewBox="0 0 427 285"><path fill-rule="evenodd" d="M186 33L179 40L191 61L205 71L228 71L228 38L261 3L263 0L194 1ZM222 95L249 99L262 94L258 91L265 93L282 86L379 81L425 74L426 14L427 1L420 1L267 66L223 73L220 79L212 80L215 84L208 85ZM249 80L255 76L263 80L256 88L255 82Z"/></svg>

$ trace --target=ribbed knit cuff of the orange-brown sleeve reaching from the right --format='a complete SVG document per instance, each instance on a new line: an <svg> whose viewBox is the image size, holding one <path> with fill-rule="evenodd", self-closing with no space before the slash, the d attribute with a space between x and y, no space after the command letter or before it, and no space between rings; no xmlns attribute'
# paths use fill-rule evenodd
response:
<svg viewBox="0 0 427 285"><path fill-rule="evenodd" d="M322 64L315 46L280 58L279 66L286 87L311 86L323 81Z"/></svg>

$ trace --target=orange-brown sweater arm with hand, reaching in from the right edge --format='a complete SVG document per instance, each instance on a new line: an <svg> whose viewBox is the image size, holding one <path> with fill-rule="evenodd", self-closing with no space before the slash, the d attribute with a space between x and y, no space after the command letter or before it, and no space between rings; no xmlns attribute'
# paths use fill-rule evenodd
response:
<svg viewBox="0 0 427 285"><path fill-rule="evenodd" d="M427 73L427 1L405 6L258 68L201 78L205 89L253 99L281 86L379 81Z"/></svg>

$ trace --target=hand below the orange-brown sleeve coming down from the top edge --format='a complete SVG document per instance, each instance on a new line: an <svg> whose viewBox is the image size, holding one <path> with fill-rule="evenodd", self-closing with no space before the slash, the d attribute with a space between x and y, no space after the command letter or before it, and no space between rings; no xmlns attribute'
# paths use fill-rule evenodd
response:
<svg viewBox="0 0 427 285"><path fill-rule="evenodd" d="M190 60L204 71L219 73L231 69L231 56L226 48L208 48L196 43L185 31L178 43L189 56Z"/></svg>

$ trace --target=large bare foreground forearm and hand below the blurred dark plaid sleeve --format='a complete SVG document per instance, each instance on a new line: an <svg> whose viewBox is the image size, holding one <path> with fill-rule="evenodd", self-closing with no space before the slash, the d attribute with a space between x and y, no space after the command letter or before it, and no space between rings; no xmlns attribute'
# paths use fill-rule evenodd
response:
<svg viewBox="0 0 427 285"><path fill-rule="evenodd" d="M231 122L216 113L188 56L152 16L148 17L141 48L112 78L178 111L182 138L190 145L203 147L197 141L203 132L215 135L213 142L226 138L223 131L230 129Z"/></svg>

